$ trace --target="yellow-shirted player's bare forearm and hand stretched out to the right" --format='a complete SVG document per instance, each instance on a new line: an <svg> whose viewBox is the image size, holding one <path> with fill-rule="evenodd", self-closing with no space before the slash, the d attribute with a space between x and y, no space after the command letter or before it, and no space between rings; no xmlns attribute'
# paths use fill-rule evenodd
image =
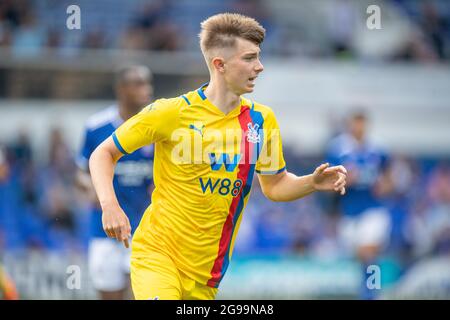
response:
<svg viewBox="0 0 450 320"><path fill-rule="evenodd" d="M347 170L344 166L321 164L312 174L297 176L286 170L273 175L259 174L264 195L272 201L293 201L315 191L335 191L345 194Z"/></svg>

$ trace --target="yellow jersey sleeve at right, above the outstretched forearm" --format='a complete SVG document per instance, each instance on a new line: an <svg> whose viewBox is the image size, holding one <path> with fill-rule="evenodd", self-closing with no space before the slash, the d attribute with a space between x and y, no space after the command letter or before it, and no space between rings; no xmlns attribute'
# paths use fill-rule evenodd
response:
<svg viewBox="0 0 450 320"><path fill-rule="evenodd" d="M277 174L286 169L280 128L272 110L264 119L262 148L256 161L258 174Z"/></svg>

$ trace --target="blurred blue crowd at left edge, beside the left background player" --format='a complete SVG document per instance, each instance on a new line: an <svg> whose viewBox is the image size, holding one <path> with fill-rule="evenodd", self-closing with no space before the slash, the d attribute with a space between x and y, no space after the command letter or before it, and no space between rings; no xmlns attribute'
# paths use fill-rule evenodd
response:
<svg viewBox="0 0 450 320"><path fill-rule="evenodd" d="M29 135L0 150L0 247L82 250L87 236L75 164L61 131L49 137L48 160L38 164Z"/></svg>

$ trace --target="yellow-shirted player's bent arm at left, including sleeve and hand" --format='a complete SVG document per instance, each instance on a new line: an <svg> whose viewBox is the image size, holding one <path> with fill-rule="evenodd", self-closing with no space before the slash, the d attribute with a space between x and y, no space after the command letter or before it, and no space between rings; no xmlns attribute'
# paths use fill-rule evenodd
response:
<svg viewBox="0 0 450 320"><path fill-rule="evenodd" d="M175 98L161 99L145 107L117 128L111 137L95 149L89 159L92 182L103 212L103 229L109 237L123 241L125 246L128 246L131 228L114 193L115 165L124 154L170 139L179 124L180 105L181 98Z"/></svg>

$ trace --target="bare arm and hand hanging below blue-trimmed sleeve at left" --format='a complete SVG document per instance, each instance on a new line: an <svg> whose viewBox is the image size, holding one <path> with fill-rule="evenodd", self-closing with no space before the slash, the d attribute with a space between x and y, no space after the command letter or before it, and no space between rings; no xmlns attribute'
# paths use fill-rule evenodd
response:
<svg viewBox="0 0 450 320"><path fill-rule="evenodd" d="M119 205L113 187L114 168L123 153L113 138L103 141L89 159L92 183L102 208L103 229L110 238L122 241L128 248L131 226L125 212Z"/></svg>

